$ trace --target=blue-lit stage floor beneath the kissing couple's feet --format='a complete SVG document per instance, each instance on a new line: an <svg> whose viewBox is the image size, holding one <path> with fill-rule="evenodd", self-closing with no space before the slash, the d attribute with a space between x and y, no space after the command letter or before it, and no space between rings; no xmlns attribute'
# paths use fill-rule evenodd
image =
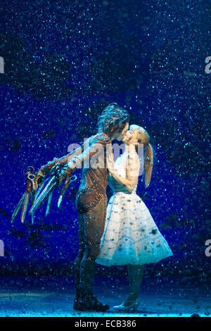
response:
<svg viewBox="0 0 211 331"><path fill-rule="evenodd" d="M0 276L1 317L92 317L92 316L210 316L210 294L206 284L181 282L172 277L145 277L135 313L117 313L128 293L125 276L96 276L94 294L110 305L106 313L80 312L72 308L75 284L72 276ZM179 284L181 283L181 286Z"/></svg>

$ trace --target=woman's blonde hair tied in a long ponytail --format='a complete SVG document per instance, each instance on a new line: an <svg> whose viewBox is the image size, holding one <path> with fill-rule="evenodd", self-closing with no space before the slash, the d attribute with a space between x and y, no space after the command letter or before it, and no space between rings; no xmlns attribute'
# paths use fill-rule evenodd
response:
<svg viewBox="0 0 211 331"><path fill-rule="evenodd" d="M143 149L146 148L146 152L143 158L143 177L145 187L148 187L151 182L151 175L153 170L153 147L149 143L150 137L148 135L148 132L146 132L143 127L139 127L139 125L130 125L129 129L133 131L136 129L139 130L139 132L137 132L137 143L143 144Z"/></svg>

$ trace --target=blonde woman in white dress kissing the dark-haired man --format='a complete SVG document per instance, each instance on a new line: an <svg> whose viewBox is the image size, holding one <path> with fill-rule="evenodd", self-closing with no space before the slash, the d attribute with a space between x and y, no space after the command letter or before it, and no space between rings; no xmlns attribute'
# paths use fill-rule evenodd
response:
<svg viewBox="0 0 211 331"><path fill-rule="evenodd" d="M125 143L122 156L115 163L113 156L108 159L108 184L113 189L113 196L108 202L101 251L96 262L103 266L127 265L129 296L113 308L128 311L135 310L140 303L143 265L173 254L146 204L136 194L139 175L143 173L145 187L151 181L153 148L149 135L143 127L130 125L122 141Z"/></svg>

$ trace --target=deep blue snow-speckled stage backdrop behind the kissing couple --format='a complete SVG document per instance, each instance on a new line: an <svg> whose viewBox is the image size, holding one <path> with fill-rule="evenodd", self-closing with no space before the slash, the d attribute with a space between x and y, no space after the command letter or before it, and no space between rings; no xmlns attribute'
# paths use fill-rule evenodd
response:
<svg viewBox="0 0 211 331"><path fill-rule="evenodd" d="M75 195L53 193L34 225L11 215L38 170L96 134L111 102L151 136L151 185L138 194L173 256L146 273L209 275L210 79L208 1L11 1L1 18L1 275L69 275L78 250ZM108 188L108 197L111 190ZM209 253L209 250L208 250ZM124 267L98 273L124 273Z"/></svg>

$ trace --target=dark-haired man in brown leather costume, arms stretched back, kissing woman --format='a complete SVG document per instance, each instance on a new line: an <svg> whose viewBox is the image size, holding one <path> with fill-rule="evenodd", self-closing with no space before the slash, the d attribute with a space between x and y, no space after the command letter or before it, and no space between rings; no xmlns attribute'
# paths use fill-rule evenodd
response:
<svg viewBox="0 0 211 331"><path fill-rule="evenodd" d="M67 164L60 184L65 179L68 182L70 176L77 168L82 168L82 180L76 196L77 211L79 213L79 252L74 264L74 276L76 284L76 299L73 308L75 310L106 311L107 304L101 304L92 293L92 285L95 273L96 256L100 252L101 237L106 222L108 185L108 170L106 166L106 150L112 152L111 141L122 140L129 127L129 113L118 104L109 104L98 117L98 132L89 137L88 143L75 149L62 158L54 158L53 161L42 166L37 173L37 185L44 176L49 173L53 165ZM87 147L85 147L85 144ZM99 148L100 147L100 148ZM94 167L84 167L87 160L96 158Z"/></svg>

